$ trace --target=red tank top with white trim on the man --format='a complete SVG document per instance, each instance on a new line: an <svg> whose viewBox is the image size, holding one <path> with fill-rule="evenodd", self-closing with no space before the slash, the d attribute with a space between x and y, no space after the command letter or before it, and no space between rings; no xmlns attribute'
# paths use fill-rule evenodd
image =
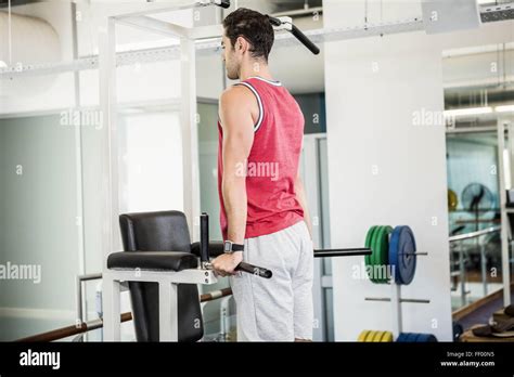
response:
<svg viewBox="0 0 514 377"><path fill-rule="evenodd" d="M291 93L280 82L254 77L245 86L257 99L259 118L254 127L254 144L246 161L247 220L245 238L279 232L304 219L296 199L295 180L304 138L304 115ZM223 131L218 122L218 193L220 222L227 239L223 179Z"/></svg>

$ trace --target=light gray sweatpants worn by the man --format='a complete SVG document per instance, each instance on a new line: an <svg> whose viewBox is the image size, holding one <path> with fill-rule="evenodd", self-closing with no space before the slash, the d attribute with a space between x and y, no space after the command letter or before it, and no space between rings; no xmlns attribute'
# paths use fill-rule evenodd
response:
<svg viewBox="0 0 514 377"><path fill-rule="evenodd" d="M244 261L271 270L273 276L231 277L237 341L312 339L313 247L306 223L245 239Z"/></svg>

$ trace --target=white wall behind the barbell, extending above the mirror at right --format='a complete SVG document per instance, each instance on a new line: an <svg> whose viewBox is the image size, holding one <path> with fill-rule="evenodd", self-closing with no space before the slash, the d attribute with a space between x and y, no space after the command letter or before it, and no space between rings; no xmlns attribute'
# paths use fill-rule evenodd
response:
<svg viewBox="0 0 514 377"><path fill-rule="evenodd" d="M362 24L362 3L325 0L325 27ZM377 3L371 4L376 22ZM404 20L421 15L421 8L387 1L382 14L383 21ZM414 281L402 295L431 303L403 304L406 332L451 339L445 129L413 126L413 112L444 109L442 50L509 41L511 26L325 44L331 245L361 246L374 224L413 229L417 248L429 256L419 258ZM363 329L391 329L389 304L364 302L364 297L389 296L389 287L351 276L362 260L333 261L337 340L355 340Z"/></svg>

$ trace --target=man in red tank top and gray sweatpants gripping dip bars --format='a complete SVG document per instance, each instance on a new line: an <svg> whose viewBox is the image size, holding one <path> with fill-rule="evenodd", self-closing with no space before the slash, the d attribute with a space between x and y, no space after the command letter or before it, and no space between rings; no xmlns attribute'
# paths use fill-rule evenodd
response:
<svg viewBox="0 0 514 377"><path fill-rule="evenodd" d="M220 99L218 190L226 253L213 262L231 276L237 340L312 339L313 249L298 164L304 116L271 77L269 18L239 9L223 22L228 77L240 80ZM245 261L270 280L234 274Z"/></svg>

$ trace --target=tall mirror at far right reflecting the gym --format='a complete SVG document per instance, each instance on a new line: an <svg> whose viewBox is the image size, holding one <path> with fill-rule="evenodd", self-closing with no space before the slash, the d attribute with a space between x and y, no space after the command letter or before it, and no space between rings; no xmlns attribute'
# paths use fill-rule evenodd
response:
<svg viewBox="0 0 514 377"><path fill-rule="evenodd" d="M514 46L445 51L442 72L451 298L457 311L503 287L501 219L507 209L501 194L511 188L512 150L510 133L499 125L514 119ZM509 221L504 226L512 230ZM507 265L512 270L512 260Z"/></svg>

